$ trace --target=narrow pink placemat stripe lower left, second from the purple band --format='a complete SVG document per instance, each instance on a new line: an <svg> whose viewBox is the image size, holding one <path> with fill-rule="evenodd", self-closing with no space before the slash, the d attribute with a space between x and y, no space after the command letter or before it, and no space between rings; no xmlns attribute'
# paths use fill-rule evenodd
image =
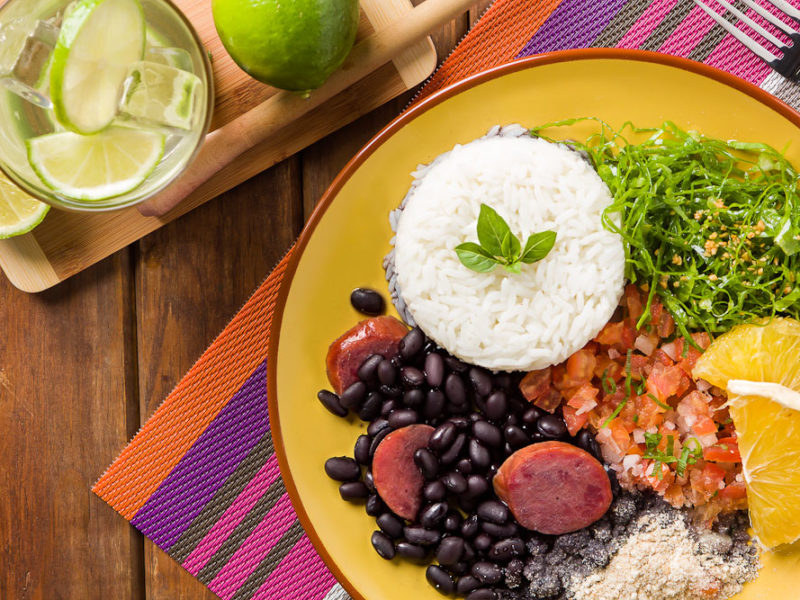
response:
<svg viewBox="0 0 800 600"><path fill-rule="evenodd" d="M292 508L289 494L284 494L208 584L209 589L221 598L229 598L256 570L296 520L297 515Z"/></svg>

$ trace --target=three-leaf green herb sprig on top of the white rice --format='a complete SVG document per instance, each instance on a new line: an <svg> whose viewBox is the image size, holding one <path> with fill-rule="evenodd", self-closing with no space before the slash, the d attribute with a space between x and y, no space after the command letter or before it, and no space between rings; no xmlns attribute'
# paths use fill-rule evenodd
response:
<svg viewBox="0 0 800 600"><path fill-rule="evenodd" d="M497 265L509 273L520 273L522 263L542 260L556 242L555 231L542 231L528 236L523 247L505 219L487 204L481 204L477 229L480 243L465 242L455 251L461 264L478 273L488 273Z"/></svg>

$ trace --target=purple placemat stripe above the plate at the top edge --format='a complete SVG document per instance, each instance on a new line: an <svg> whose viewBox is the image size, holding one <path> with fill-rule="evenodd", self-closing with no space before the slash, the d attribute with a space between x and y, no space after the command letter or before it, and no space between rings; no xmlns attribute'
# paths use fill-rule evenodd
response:
<svg viewBox="0 0 800 600"><path fill-rule="evenodd" d="M517 58L587 47L626 2L628 0L564 0L533 34Z"/></svg>

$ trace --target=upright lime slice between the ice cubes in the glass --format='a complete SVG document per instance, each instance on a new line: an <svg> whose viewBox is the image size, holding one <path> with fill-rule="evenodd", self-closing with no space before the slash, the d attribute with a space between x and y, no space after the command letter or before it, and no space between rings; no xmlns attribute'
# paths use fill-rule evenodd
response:
<svg viewBox="0 0 800 600"><path fill-rule="evenodd" d="M53 50L50 97L67 129L90 134L117 114L128 67L144 56L139 0L77 0Z"/></svg>

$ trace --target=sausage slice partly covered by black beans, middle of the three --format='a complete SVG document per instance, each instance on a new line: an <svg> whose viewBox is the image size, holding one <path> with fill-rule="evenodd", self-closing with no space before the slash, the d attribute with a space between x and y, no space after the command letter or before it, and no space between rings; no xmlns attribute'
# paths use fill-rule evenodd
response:
<svg viewBox="0 0 800 600"><path fill-rule="evenodd" d="M419 512L425 484L414 453L428 445L432 434L430 425L407 425L383 438L372 458L375 490L394 514L409 521Z"/></svg>

